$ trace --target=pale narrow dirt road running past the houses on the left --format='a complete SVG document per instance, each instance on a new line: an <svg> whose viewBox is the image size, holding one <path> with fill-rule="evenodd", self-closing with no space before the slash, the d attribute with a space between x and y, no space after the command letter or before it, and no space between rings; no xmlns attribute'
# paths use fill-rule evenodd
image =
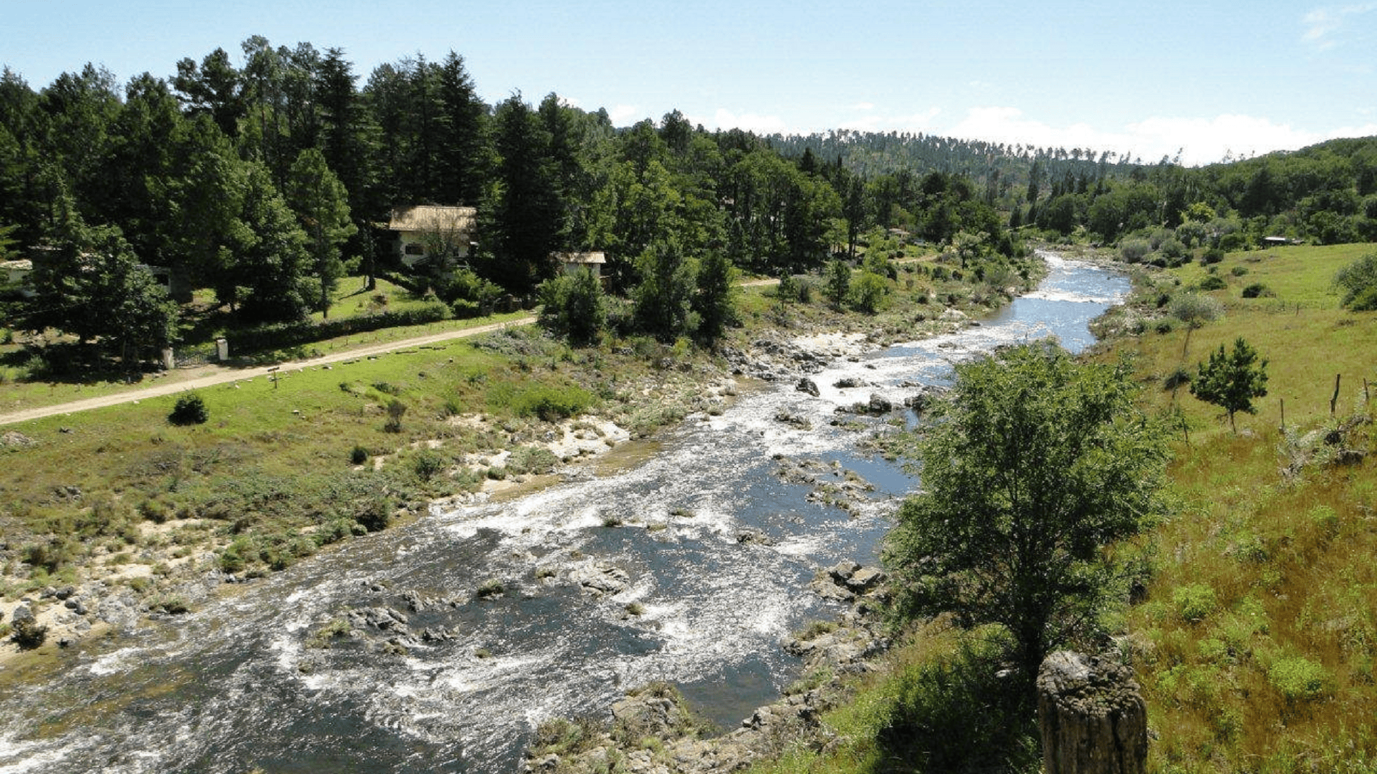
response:
<svg viewBox="0 0 1377 774"><path fill-rule="evenodd" d="M116 406L120 404L128 404L132 401L142 401L145 398L157 398L160 395L172 395L176 393L185 393L187 390L200 390L201 387L211 387L212 384L223 384L226 381L237 381L241 379L255 379L259 376L267 376L269 373L277 370L278 368L310 368L315 365L325 365L330 362L341 362L347 359L377 355L383 353L390 353L395 350L405 350L410 347L419 347L423 344L435 344L439 342L449 342L453 339L465 339L468 336L479 336L482 333L490 333L493 331L501 331L503 328L509 328L512 325L530 325L536 322L534 317L522 317L518 320L508 320L507 322L493 322L490 325L479 325L478 328L465 328L463 331L446 331L445 333L431 333L430 336L417 336L414 339L402 339L399 342L388 342L386 344L369 344L366 347L358 347L354 350L347 350L341 353L333 353L322 355L318 358L295 361L291 364L281 364L280 366L256 366L256 368L226 368L226 366L208 366L211 373L205 376L197 376L193 379L182 380L168 380L158 384L150 384L147 387L139 387L129 390L127 393L117 393L114 395L102 395L99 398L88 398L85 401L73 401L70 404L56 404L52 406L41 406L37 409L28 409L22 412L15 412L10 415L0 415L0 424L15 424L19 421L29 421L32 419L43 419L48 416L69 415L76 412L85 412L91 409L101 409L105 406Z"/></svg>

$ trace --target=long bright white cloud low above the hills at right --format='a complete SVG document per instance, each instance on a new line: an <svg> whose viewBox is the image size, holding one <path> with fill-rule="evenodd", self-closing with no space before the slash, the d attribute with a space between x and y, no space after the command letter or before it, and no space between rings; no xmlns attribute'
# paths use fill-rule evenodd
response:
<svg viewBox="0 0 1377 774"><path fill-rule="evenodd" d="M1037 147L1082 147L1124 153L1154 163L1162 156L1181 154L1188 165L1220 161L1226 154L1257 156L1274 150L1294 150L1333 138L1377 134L1377 123L1338 127L1327 131L1297 129L1253 116L1223 114L1209 118L1150 117L1121 129L1100 129L1089 124L1053 127L1027 118L1018 107L974 107L942 134L963 139L983 139L1005 145Z"/></svg>

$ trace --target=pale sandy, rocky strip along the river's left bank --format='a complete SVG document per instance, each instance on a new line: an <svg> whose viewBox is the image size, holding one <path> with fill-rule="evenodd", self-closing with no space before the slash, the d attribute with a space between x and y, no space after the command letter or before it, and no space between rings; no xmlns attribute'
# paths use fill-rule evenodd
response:
<svg viewBox="0 0 1377 774"><path fill-rule="evenodd" d="M430 437L419 437L394 453L370 454L355 470L369 467L383 471L394 464L414 464L414 454L425 450L445 453L443 474L432 481L454 481L461 490L437 493L430 486L431 493L424 500L413 500L391 514L391 519L399 523L423 518L434 508L483 503L494 497L512 499L563 481L607 475L639 461L638 454L625 453L628 442L646 443L655 432L686 417L701 421L719 416L739 390L796 380L828 362L859 358L896 340L923 339L978 325L976 317L987 314L991 306L1007 303L1016 293L1009 288L1002 295L978 295L961 288L964 285L943 285L940 300L934 288L934 297L917 299L923 303L916 303L912 296L896 297L879 315L843 314L821 304L761 304L749 315L748 325L733 332L716 353L686 357L661 351L651 358L651 368L613 365L625 369L631 379L617 384L616 399L605 401L593 413L559 421L522 420L486 412L449 416ZM509 344L493 344L493 348L504 347ZM529 357L527 343L518 347L516 357ZM646 355L631 347L613 347L605 357L620 364ZM347 358L337 361L351 362ZM343 372L346 365L333 368ZM332 369L330 365L319 368ZM269 383L277 390L280 380L289 377L284 372ZM576 376L576 380L593 384L592 376ZM252 379L245 377L244 381ZM240 383L229 387L238 390ZM341 383L344 387L346 383ZM368 412L366 405L364 410ZM373 410L381 413L380 406ZM78 415L65 421L67 424L59 428L62 434L84 431ZM51 443L41 431L30 430L33 424L8 431L6 448L23 454L33 446ZM460 441L457 445L456 439ZM609 454L613 450L620 453ZM607 464L605 460L609 459L616 461ZM99 496L80 485L63 485L47 499L58 505L70 503L66 507L76 508L95 501L94 507L99 510ZM114 499L127 500L118 494ZM139 505L139 510L146 507ZM14 636L0 639L0 668L19 656L29 661L52 658L83 639L127 629L146 616L183 614L213 599L223 588L253 581L270 572L266 566L240 570L224 561L226 551L240 536L238 527L223 530L223 516L186 510L176 518L156 516L149 512L140 519L135 514L118 530L103 529L101 532L117 534L116 540L95 543L84 551L72 551L69 541L55 543L63 558L61 565L54 562L52 566L62 572L50 573L48 583L26 580L21 574L25 565L15 561L21 555L33 558L33 545L41 544L23 545L25 538L19 536L7 547L0 547L0 559L8 556L3 563L6 576L0 580L3 588L10 589L0 599L0 627L7 627L6 634L14 634L15 624L23 621L21 627L44 635L39 647L21 647L21 640ZM319 534L321 529L307 526L297 534L310 537ZM328 543L322 543L322 548L325 545ZM22 645L30 646L33 639Z"/></svg>

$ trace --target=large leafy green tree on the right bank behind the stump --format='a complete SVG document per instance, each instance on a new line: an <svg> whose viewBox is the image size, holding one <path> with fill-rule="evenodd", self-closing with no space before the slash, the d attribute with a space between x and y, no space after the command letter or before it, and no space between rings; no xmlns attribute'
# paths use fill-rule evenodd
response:
<svg viewBox="0 0 1377 774"><path fill-rule="evenodd" d="M884 558L902 616L1002 624L1031 680L1049 649L1096 631L1121 572L1103 548L1164 512L1165 439L1125 366L1038 343L956 370Z"/></svg>

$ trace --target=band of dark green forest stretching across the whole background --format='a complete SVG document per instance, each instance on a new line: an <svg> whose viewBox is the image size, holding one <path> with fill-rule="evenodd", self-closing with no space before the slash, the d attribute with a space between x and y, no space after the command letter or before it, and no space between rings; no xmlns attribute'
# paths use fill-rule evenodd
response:
<svg viewBox="0 0 1377 774"><path fill-rule="evenodd" d="M347 273L403 269L386 226L416 204L476 208L460 271L420 282L465 311L529 296L560 252L605 252L627 293L653 256L796 273L854 256L874 227L954 245L963 263L1015 255L1029 229L1132 237L1147 244L1132 258L1164 262L1274 234L1377 238L1374 139L1183 168L923 135L708 132L679 112L617 128L555 94L487 105L453 51L365 74L339 48L252 37L174 70L121 84L87 65L39 90L0 76L0 259L41 258L7 328L125 355L175 340L185 310L140 264L205 291L233 325L303 320Z"/></svg>

